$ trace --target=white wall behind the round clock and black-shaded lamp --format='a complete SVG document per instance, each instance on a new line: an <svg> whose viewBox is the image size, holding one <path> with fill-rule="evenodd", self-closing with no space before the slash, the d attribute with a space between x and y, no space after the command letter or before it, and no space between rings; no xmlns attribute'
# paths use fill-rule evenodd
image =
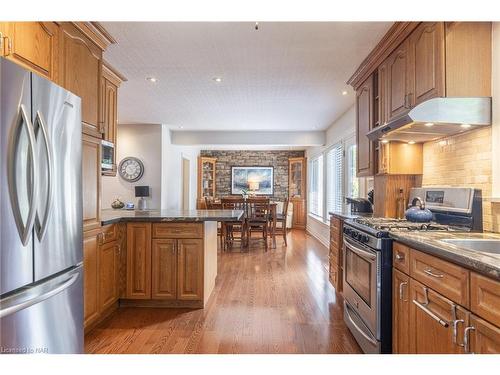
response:
<svg viewBox="0 0 500 375"><path fill-rule="evenodd" d="M150 208L159 208L161 201L161 125L118 125L116 158L119 163L126 156L134 156L144 163L143 177L134 183L116 177L102 177L101 207L111 208L111 203L119 197L124 202L137 204L134 186L149 185Z"/></svg>

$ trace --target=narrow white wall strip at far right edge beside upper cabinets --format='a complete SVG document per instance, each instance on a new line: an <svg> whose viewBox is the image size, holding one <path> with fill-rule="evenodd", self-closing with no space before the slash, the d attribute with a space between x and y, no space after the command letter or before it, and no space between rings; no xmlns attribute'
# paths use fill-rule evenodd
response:
<svg viewBox="0 0 500 375"><path fill-rule="evenodd" d="M492 127L492 162L493 189L492 196L500 198L500 22L493 22L492 35L492 76L491 89L493 97Z"/></svg>

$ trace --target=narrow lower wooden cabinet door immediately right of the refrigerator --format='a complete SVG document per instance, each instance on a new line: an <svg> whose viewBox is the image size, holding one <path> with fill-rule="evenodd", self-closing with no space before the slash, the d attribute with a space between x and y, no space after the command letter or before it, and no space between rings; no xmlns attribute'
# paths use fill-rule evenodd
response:
<svg viewBox="0 0 500 375"><path fill-rule="evenodd" d="M99 316L99 256L97 231L83 239L83 324L87 327Z"/></svg>

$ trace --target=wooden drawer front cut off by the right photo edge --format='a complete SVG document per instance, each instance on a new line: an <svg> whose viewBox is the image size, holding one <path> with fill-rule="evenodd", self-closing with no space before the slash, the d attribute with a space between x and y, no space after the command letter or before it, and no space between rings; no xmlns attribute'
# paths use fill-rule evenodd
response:
<svg viewBox="0 0 500 375"><path fill-rule="evenodd" d="M500 282L472 272L472 312L500 327Z"/></svg>

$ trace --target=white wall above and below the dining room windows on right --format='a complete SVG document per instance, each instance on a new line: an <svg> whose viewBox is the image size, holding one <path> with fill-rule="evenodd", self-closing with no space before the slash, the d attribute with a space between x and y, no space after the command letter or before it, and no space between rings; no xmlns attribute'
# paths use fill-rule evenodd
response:
<svg viewBox="0 0 500 375"><path fill-rule="evenodd" d="M349 139L356 134L356 114L354 105L349 108L337 121L335 121L326 131L326 144L321 147L309 147L306 149L307 158L314 157L330 146ZM325 246L330 244L330 227L328 223L322 220L308 216L307 217L307 231L316 237Z"/></svg>

